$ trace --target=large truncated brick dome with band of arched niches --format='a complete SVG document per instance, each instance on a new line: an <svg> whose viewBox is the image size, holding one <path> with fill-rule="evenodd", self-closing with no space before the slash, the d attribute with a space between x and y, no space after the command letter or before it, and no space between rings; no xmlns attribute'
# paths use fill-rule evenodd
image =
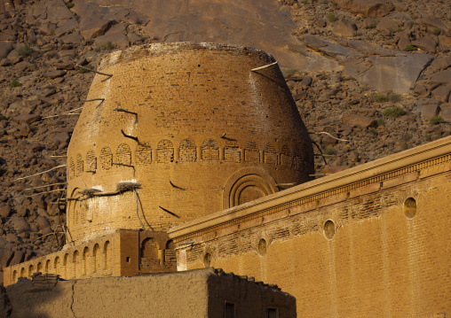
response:
<svg viewBox="0 0 451 318"><path fill-rule="evenodd" d="M67 151L75 242L166 230L309 181L312 143L274 62L213 43L104 58Z"/></svg>

